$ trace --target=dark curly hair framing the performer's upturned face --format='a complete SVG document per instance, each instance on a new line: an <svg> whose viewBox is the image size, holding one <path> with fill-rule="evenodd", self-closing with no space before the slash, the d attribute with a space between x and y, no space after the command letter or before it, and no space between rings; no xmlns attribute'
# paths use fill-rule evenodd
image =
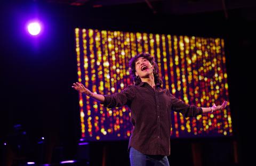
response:
<svg viewBox="0 0 256 166"><path fill-rule="evenodd" d="M146 54L146 53L141 53L138 54L134 57L132 57L132 59L129 61L129 72L130 72L130 76L133 79L133 82L135 85L139 85L141 82L141 79L138 77L136 77L135 75L135 62L137 62L137 60L139 59L139 57L144 57L145 59L147 59L151 65L153 65L153 74L154 74L154 80L155 80L155 84L159 84L159 86L162 86L162 79L159 77L158 74L158 66L157 63L155 62L155 58L154 56L151 56L150 54Z"/></svg>

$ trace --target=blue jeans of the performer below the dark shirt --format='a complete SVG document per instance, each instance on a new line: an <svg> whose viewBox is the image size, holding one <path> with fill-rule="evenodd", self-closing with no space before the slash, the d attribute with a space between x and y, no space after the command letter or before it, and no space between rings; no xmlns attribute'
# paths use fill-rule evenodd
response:
<svg viewBox="0 0 256 166"><path fill-rule="evenodd" d="M135 150L130 149L131 166L169 166L167 156L163 155L146 155Z"/></svg>

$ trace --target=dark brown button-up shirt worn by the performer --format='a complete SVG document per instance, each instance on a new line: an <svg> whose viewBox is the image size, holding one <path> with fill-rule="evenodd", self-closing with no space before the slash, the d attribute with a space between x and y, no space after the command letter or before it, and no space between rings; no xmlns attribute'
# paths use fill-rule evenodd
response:
<svg viewBox="0 0 256 166"><path fill-rule="evenodd" d="M187 105L175 98L169 89L159 85L154 89L147 82L129 85L121 93L104 96L105 101L101 103L104 107L129 106L134 128L128 149L133 147L148 155L170 155L171 110L184 117L203 113L201 107Z"/></svg>

